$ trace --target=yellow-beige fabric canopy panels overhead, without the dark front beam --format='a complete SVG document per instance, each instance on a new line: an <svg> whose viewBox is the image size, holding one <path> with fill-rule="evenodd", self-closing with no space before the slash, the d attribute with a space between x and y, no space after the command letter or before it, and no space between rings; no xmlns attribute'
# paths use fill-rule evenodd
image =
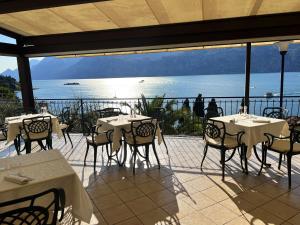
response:
<svg viewBox="0 0 300 225"><path fill-rule="evenodd" d="M4 13L0 26L36 36L297 11L299 0L111 0Z"/></svg>

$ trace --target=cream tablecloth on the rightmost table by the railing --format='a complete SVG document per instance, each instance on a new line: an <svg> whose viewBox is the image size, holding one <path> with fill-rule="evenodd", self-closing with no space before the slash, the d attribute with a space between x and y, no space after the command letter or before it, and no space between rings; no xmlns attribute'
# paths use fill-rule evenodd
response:
<svg viewBox="0 0 300 225"><path fill-rule="evenodd" d="M271 133L276 136L289 135L289 125L282 119L240 114L213 117L211 119L224 122L227 133L234 134L239 131L245 132L242 141L248 147L248 158L252 154L253 145L266 141L264 133ZM235 122L232 122L232 120L235 120ZM263 123L264 120L266 121L265 123Z"/></svg>

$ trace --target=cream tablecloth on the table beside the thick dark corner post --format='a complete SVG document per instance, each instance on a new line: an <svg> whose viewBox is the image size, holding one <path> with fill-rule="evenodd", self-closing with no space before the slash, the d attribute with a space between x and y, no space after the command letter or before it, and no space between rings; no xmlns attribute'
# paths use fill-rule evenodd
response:
<svg viewBox="0 0 300 225"><path fill-rule="evenodd" d="M59 121L56 116L51 114L28 114L16 117L7 117L5 118L5 123L8 124L7 126L7 142L13 141L18 134L20 134L20 127L23 126L23 119L37 117L37 116L51 116L52 122L52 132L56 133L58 138L62 137L62 131L59 126Z"/></svg>

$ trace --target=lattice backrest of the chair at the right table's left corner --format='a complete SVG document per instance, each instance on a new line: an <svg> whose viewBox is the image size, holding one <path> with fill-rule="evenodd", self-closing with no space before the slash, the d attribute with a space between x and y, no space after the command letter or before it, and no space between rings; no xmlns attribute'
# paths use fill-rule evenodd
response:
<svg viewBox="0 0 300 225"><path fill-rule="evenodd" d="M221 121L207 119L204 124L204 139L207 141L216 140L224 145L226 134L225 124Z"/></svg>

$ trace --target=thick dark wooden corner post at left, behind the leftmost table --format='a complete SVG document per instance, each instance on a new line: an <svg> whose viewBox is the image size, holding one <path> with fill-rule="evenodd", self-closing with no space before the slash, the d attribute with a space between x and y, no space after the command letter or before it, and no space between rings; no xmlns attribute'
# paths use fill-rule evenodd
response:
<svg viewBox="0 0 300 225"><path fill-rule="evenodd" d="M24 55L20 55L17 57L17 62L23 99L23 108L25 112L33 112L35 107L29 59Z"/></svg>

